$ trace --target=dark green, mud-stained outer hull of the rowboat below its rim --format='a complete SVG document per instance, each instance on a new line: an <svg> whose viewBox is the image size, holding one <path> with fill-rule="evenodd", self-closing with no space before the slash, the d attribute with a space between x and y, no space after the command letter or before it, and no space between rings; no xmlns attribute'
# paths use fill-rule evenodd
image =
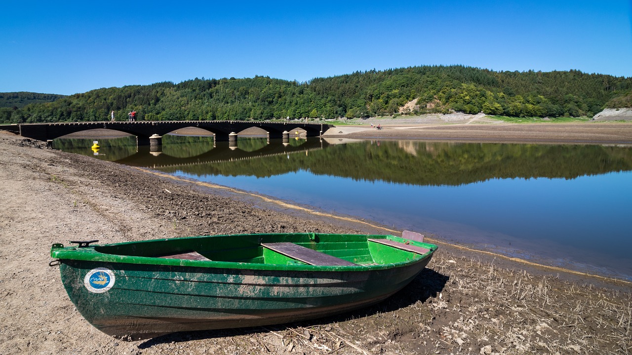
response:
<svg viewBox="0 0 632 355"><path fill-rule="evenodd" d="M358 272L155 267L64 260L64 287L82 316L121 339L296 322L378 303L413 280L430 258ZM105 267L116 285L94 293L85 275ZM150 270L149 270L150 269ZM154 275L147 277L147 272Z"/></svg>

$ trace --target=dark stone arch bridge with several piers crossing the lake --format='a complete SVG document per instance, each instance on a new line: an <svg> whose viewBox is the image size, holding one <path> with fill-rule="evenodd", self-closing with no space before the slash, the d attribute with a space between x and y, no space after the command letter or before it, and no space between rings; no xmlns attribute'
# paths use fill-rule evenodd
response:
<svg viewBox="0 0 632 355"><path fill-rule="evenodd" d="M134 121L134 122L74 122L74 123L24 123L3 126L3 129L13 131L19 135L34 140L53 140L70 133L86 131L88 129L114 129L135 135L138 145L149 145L152 135L166 135L176 129L197 127L215 134L216 141L229 141L236 138L236 133L246 128L258 127L267 132L268 138L287 138L290 131L301 128L307 131L307 136L320 136L331 124L298 123L298 122L267 122L267 121Z"/></svg>

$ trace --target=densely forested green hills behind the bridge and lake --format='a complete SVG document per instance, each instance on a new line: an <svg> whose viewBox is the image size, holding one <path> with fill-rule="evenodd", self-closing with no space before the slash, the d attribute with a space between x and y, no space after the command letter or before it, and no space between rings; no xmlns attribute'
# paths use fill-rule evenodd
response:
<svg viewBox="0 0 632 355"><path fill-rule="evenodd" d="M581 71L490 71L418 66L315 78L204 78L101 88L46 104L0 108L0 123L125 119L230 120L390 116L451 111L506 116L593 116L632 106L632 78Z"/></svg>

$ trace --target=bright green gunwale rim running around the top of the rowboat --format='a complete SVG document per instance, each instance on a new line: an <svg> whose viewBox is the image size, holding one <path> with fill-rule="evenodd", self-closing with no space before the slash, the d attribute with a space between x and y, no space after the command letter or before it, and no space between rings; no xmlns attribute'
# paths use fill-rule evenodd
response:
<svg viewBox="0 0 632 355"><path fill-rule="evenodd" d="M293 233L289 233L293 234ZM303 234L303 233L296 233ZM222 236L274 236L279 233L262 233L262 234L225 234ZM319 234L319 235L332 235L332 234ZM119 263L119 264L137 264L137 265L160 265L160 266L178 266L178 267L199 267L199 268L224 268L224 269L250 269L250 270L283 270L283 271L349 271L360 272L367 270L382 270L393 267L403 267L406 265L413 265L418 262L423 262L437 250L437 246L434 244L422 243L410 241L410 239L404 239L392 235L364 235L364 234L348 234L356 236L365 236L367 238L382 237L377 239L395 239L401 243L415 243L423 244L428 248L428 252L420 255L419 258L413 258L398 263L384 263L377 265L298 265L298 264L266 264L266 263L245 263L245 262L224 262L216 260L188 260L188 259L169 259L160 258L157 256L135 256L135 255L117 255L102 253L95 250L98 247L104 246L125 246L128 244L143 244L143 243L155 243L162 241L174 241L178 239L202 239L212 238L216 236L191 236L180 238L161 238L161 239L149 239L145 241L128 241L122 243L109 243L109 244L93 244L87 247L78 248L76 246L62 246L61 244L54 244L51 248L51 256L63 262L63 260L78 260L84 262L104 262L104 263ZM413 253L413 252L411 252Z"/></svg>

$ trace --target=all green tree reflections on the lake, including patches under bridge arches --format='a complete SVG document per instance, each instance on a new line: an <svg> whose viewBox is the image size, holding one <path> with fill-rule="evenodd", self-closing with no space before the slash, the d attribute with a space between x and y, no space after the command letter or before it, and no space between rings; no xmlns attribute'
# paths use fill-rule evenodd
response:
<svg viewBox="0 0 632 355"><path fill-rule="evenodd" d="M53 146L73 153L93 155L92 139L56 140ZM290 138L290 147L305 140ZM266 138L238 138L238 150L257 153L279 145ZM123 160L137 154L135 137L99 140L99 159ZM77 148L79 147L79 148ZM303 145L305 147L305 145ZM144 148L143 148L144 149ZM147 148L149 149L149 148ZM162 153L177 159L195 158L205 153L230 155L227 148L213 148L212 137L163 137ZM141 154L142 153L142 154ZM147 159L149 153L140 150ZM141 157L141 158L142 158ZM136 164L132 164L136 165ZM537 145L504 143L445 143L425 141L362 141L331 145L309 152L253 157L161 168L190 174L225 176L274 176L308 170L313 174L342 176L358 180L388 181L422 185L459 185L494 178L565 178L632 170L632 148L604 145Z"/></svg>

